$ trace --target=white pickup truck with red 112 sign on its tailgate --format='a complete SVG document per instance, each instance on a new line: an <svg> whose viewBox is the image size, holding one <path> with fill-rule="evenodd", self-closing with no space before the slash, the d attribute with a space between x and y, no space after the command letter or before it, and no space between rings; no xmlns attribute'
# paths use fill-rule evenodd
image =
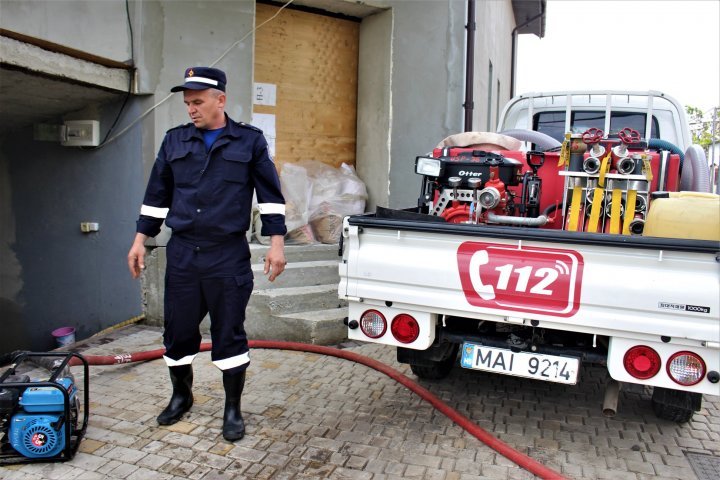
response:
<svg viewBox="0 0 720 480"><path fill-rule="evenodd" d="M657 92L536 94L500 130L417 157L416 207L345 219L348 337L421 378L576 384L605 365L608 415L627 382L688 421L720 395L720 200L684 112Z"/></svg>

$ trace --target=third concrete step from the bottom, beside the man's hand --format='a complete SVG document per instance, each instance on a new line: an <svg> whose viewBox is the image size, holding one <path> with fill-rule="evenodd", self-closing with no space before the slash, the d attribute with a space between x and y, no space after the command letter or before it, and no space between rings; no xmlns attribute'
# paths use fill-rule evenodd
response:
<svg viewBox="0 0 720 480"><path fill-rule="evenodd" d="M328 285L339 283L338 260L313 260L307 262L289 262L285 271L274 282L263 273L264 264L253 263L255 290L268 288L302 287L310 285Z"/></svg>

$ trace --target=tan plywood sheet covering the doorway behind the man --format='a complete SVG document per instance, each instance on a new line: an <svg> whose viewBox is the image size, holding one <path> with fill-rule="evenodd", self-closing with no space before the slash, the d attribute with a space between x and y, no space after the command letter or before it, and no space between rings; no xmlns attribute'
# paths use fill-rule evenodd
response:
<svg viewBox="0 0 720 480"><path fill-rule="evenodd" d="M256 24L278 7L257 4ZM285 9L255 34L255 82L277 86L279 164L318 160L355 164L359 24Z"/></svg>

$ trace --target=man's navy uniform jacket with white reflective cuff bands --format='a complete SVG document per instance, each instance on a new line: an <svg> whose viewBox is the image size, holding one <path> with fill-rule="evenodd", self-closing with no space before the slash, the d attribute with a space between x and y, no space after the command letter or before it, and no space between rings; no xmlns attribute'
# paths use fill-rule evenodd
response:
<svg viewBox="0 0 720 480"><path fill-rule="evenodd" d="M173 236L208 247L250 228L253 190L262 235L285 235L285 200L262 131L225 116L209 152L188 123L168 130L150 173L137 231L154 237L163 221Z"/></svg>

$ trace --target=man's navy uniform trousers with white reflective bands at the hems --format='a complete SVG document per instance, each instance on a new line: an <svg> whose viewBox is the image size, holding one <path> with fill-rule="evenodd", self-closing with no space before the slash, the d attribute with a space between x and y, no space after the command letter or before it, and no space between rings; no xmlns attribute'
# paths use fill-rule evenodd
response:
<svg viewBox="0 0 720 480"><path fill-rule="evenodd" d="M211 358L229 374L250 363L245 308L253 289L245 236L200 247L173 236L165 271L165 361L189 365L200 351L200 322L210 313Z"/></svg>

